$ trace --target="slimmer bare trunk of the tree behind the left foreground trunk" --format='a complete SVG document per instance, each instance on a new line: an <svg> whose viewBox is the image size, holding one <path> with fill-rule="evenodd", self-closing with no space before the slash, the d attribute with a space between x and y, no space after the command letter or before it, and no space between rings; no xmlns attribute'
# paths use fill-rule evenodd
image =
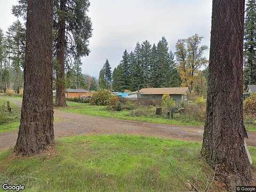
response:
<svg viewBox="0 0 256 192"><path fill-rule="evenodd" d="M66 11L66 0L60 1L60 10ZM59 31L57 44L57 90L55 105L59 107L67 106L65 97L65 30L66 19L59 15Z"/></svg>

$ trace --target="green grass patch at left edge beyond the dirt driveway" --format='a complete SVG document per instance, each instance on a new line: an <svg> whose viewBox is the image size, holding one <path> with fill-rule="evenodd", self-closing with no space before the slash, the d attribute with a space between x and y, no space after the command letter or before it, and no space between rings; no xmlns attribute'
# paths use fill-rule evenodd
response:
<svg viewBox="0 0 256 192"><path fill-rule="evenodd" d="M6 108L6 101L9 100L8 98L0 98L0 106L2 107L5 102L5 108ZM10 101L10 100L9 100ZM15 103L10 102L10 107L12 108L12 112L8 111L1 111L0 117L0 133L4 132L10 132L17 130L19 127L19 121L20 121L20 107L15 105ZM7 109L5 109L7 110Z"/></svg>

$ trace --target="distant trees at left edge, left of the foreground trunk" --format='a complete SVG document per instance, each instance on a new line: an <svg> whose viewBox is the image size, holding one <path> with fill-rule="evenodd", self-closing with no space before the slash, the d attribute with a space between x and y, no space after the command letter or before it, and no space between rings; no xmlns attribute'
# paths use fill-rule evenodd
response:
<svg viewBox="0 0 256 192"><path fill-rule="evenodd" d="M0 29L0 91L14 89L20 93L23 87L26 29L17 20L7 29Z"/></svg>

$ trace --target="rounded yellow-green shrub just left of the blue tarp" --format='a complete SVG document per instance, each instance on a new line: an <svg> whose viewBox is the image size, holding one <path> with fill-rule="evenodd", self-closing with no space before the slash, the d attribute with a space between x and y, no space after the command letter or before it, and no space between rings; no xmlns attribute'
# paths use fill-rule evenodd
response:
<svg viewBox="0 0 256 192"><path fill-rule="evenodd" d="M111 98L111 93L108 90L100 90L93 93L90 100L91 105L106 106Z"/></svg>

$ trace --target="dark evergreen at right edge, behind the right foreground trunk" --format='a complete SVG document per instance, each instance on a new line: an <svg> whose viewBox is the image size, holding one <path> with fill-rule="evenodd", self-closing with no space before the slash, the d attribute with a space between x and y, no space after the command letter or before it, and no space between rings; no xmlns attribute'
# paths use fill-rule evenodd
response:
<svg viewBox="0 0 256 192"><path fill-rule="evenodd" d="M248 0L244 26L244 85L256 84L256 1Z"/></svg>

